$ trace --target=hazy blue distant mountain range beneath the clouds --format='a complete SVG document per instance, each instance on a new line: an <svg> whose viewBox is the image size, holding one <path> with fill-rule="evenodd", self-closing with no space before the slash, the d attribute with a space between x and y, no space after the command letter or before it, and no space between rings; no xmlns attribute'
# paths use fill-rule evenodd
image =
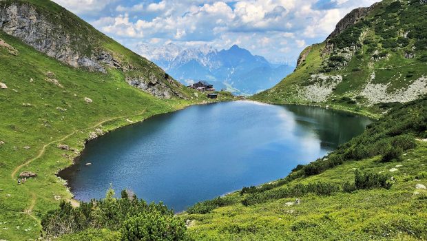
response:
<svg viewBox="0 0 427 241"><path fill-rule="evenodd" d="M181 83L209 81L217 90L226 89L242 95L273 87L295 68L269 63L264 57L253 55L238 45L218 51L209 45L184 49L173 43L160 48L142 43L136 51Z"/></svg>

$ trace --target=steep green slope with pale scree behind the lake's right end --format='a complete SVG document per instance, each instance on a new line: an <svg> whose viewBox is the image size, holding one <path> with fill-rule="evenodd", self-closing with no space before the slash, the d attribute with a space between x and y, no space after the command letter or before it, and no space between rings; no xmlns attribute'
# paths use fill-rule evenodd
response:
<svg viewBox="0 0 427 241"><path fill-rule="evenodd" d="M385 0L349 13L295 72L253 97L271 103L383 112L427 93L426 1Z"/></svg>

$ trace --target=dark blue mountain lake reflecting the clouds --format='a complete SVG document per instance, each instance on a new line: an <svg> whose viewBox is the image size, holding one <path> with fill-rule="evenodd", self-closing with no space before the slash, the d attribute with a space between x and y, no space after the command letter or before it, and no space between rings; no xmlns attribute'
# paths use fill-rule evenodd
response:
<svg viewBox="0 0 427 241"><path fill-rule="evenodd" d="M90 141L79 162L60 176L79 200L103 198L112 183L116 191L132 189L138 198L181 211L283 178L369 123L362 116L301 105L196 105Z"/></svg>

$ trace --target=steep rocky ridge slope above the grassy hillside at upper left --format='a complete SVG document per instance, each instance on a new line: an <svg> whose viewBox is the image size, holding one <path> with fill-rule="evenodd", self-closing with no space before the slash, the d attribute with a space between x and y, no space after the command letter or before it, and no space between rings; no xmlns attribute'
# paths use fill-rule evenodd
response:
<svg viewBox="0 0 427 241"><path fill-rule="evenodd" d="M104 74L121 70L127 83L154 96L189 98L185 88L154 63L52 1L0 1L0 30L67 65Z"/></svg>

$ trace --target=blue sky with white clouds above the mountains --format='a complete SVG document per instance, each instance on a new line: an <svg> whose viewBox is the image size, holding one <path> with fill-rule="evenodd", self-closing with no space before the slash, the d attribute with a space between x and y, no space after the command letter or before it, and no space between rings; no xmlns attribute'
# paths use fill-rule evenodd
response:
<svg viewBox="0 0 427 241"><path fill-rule="evenodd" d="M140 42L186 48L237 44L295 63L353 8L377 0L54 0L132 50Z"/></svg>

